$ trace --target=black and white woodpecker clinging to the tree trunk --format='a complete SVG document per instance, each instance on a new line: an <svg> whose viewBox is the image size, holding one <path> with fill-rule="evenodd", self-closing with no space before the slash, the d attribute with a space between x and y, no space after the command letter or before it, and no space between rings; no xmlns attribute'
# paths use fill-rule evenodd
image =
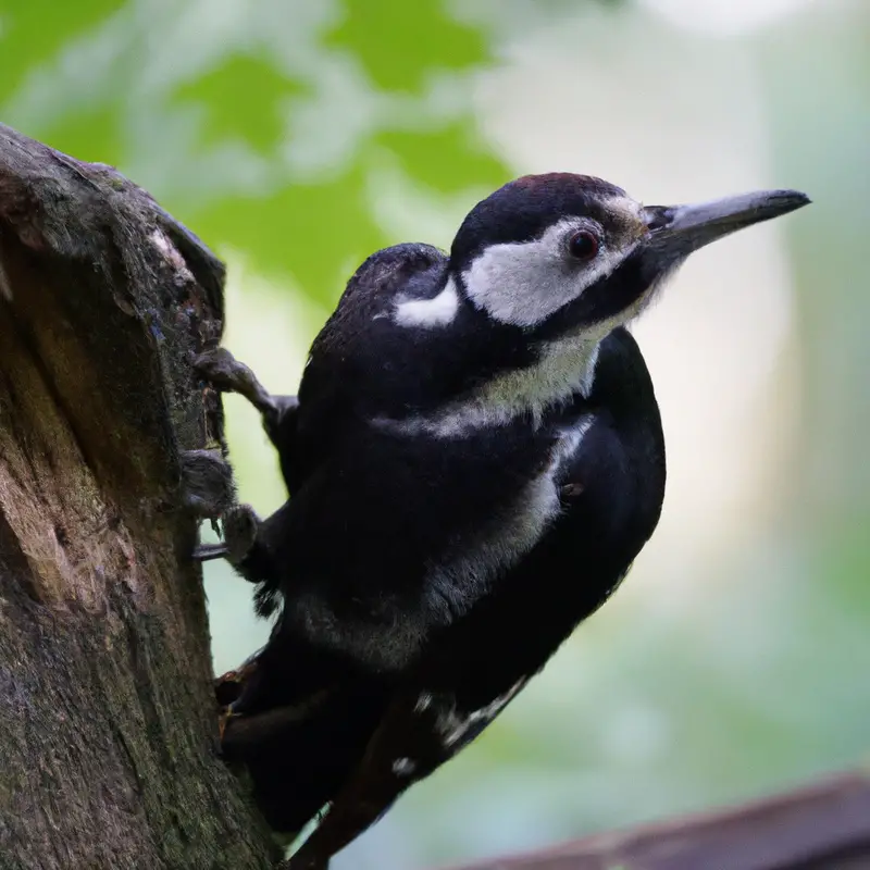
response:
<svg viewBox="0 0 870 870"><path fill-rule="evenodd" d="M449 254L370 257L297 397L223 349L197 365L261 411L287 502L224 512L222 556L275 614L221 685L223 746L290 858L320 868L505 709L656 529L664 440L625 325L689 253L800 208L793 190L642 206L599 178L518 178Z"/></svg>

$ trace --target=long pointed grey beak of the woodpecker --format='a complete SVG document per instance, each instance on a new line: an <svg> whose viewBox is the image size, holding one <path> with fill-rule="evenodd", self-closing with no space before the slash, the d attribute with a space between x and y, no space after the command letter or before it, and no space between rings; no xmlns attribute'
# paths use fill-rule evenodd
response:
<svg viewBox="0 0 870 870"><path fill-rule="evenodd" d="M693 206L647 206L647 248L661 265L679 261L723 236L779 217L810 202L798 190L758 190Z"/></svg>

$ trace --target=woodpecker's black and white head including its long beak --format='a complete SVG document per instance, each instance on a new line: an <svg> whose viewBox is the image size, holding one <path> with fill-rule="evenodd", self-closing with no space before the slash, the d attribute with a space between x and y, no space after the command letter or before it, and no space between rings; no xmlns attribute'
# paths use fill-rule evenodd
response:
<svg viewBox="0 0 870 870"><path fill-rule="evenodd" d="M493 321L551 338L600 338L634 318L695 250L809 198L765 190L694 206L642 206L585 175L527 175L477 203L450 273Z"/></svg>

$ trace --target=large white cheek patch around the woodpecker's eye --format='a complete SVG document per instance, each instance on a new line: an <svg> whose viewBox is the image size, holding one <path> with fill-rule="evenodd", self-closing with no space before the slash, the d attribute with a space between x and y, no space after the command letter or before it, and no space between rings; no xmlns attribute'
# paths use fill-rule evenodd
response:
<svg viewBox="0 0 870 870"><path fill-rule="evenodd" d="M499 323L535 326L609 275L631 253L601 246L588 264L571 262L566 235L585 224L566 219L538 239L493 245L474 260L462 279L469 299Z"/></svg>

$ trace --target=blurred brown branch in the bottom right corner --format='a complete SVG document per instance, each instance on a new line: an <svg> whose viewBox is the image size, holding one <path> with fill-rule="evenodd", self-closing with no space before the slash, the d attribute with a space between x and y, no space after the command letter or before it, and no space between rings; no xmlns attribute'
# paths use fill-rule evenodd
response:
<svg viewBox="0 0 870 870"><path fill-rule="evenodd" d="M734 809L462 870L868 870L870 776L844 774Z"/></svg>

